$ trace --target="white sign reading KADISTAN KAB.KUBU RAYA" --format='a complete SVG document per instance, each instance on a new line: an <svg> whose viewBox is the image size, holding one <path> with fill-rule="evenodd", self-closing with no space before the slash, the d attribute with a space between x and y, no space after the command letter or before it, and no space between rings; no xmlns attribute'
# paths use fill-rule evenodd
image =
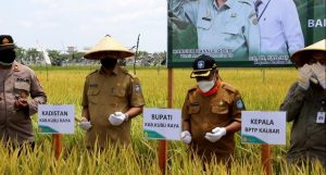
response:
<svg viewBox="0 0 326 175"><path fill-rule="evenodd" d="M42 134L74 134L75 107L38 105L38 132Z"/></svg>

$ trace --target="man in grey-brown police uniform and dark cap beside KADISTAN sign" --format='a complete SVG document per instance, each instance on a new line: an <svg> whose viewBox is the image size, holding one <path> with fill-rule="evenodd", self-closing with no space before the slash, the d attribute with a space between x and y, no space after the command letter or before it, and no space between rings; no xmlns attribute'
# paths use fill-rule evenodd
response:
<svg viewBox="0 0 326 175"><path fill-rule="evenodd" d="M34 146L30 116L47 96L34 71L14 61L14 48L11 36L0 36L0 139L15 147Z"/></svg>

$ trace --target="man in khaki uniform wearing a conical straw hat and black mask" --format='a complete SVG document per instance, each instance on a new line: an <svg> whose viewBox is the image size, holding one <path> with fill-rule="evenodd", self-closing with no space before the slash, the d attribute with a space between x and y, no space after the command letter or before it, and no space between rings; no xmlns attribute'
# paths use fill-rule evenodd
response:
<svg viewBox="0 0 326 175"><path fill-rule="evenodd" d="M131 118L142 112L145 100L139 79L120 67L117 59L134 55L112 37L105 36L86 55L100 60L101 68L90 73L83 93L83 121L86 145L130 143Z"/></svg>

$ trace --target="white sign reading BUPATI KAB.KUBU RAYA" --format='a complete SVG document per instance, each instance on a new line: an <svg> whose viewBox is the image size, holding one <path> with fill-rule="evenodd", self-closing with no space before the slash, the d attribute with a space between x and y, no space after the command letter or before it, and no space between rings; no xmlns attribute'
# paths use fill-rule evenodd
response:
<svg viewBox="0 0 326 175"><path fill-rule="evenodd" d="M147 139L180 140L181 111L175 109L145 109L143 137Z"/></svg>

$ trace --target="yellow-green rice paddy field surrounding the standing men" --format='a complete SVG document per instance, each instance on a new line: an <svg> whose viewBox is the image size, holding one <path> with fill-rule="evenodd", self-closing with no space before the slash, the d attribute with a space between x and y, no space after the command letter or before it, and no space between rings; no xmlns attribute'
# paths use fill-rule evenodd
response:
<svg viewBox="0 0 326 175"><path fill-rule="evenodd" d="M80 117L84 80L96 66L33 67L48 95L49 104L75 104L76 116ZM131 68L128 68L133 72ZM174 108L180 109L187 89L195 85L190 79L191 70L174 70ZM290 85L297 79L297 70L289 68L222 68L222 78L240 90L247 110L278 111ZM167 70L138 68L137 76L147 108L167 107ZM35 132L37 133L37 116ZM285 153L289 148L290 124L287 126L287 145L272 147L273 174L323 175L325 168L315 163L311 170L286 163ZM103 152L88 152L84 145L85 132L76 126L74 135L63 136L63 150L59 160L54 159L51 135L36 134L36 148L26 150L18 157L16 150L9 151L0 146L0 174L3 175L158 175L158 141L142 138L141 115L133 120L131 148L108 148ZM260 145L244 145L236 136L235 161L230 174L261 175ZM166 174L172 175L224 175L225 166L205 164L205 172L198 159L190 159L186 146L180 141L168 142Z"/></svg>

